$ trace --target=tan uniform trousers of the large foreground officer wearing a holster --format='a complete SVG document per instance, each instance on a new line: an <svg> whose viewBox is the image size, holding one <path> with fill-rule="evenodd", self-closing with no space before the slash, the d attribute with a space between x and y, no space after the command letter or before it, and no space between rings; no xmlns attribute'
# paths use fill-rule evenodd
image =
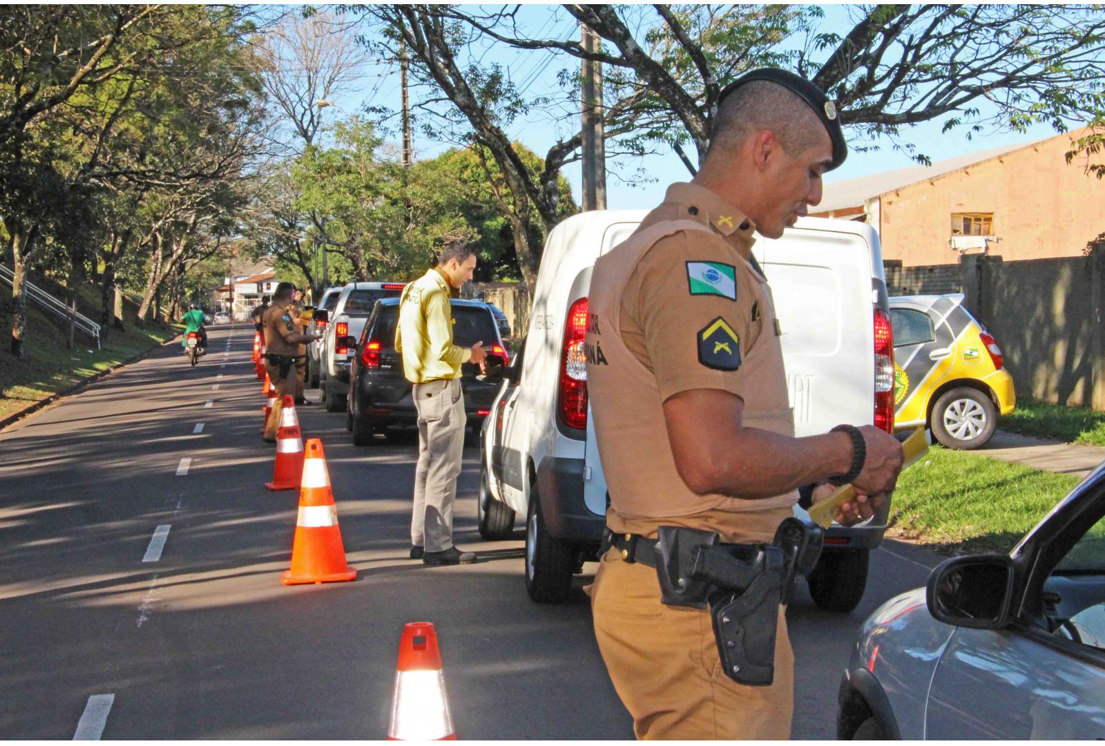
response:
<svg viewBox="0 0 1105 746"><path fill-rule="evenodd" d="M656 570L622 561L617 549L600 559L591 611L599 651L638 738L790 738L794 655L785 609L770 686L743 686L726 676L708 609L661 603Z"/></svg>

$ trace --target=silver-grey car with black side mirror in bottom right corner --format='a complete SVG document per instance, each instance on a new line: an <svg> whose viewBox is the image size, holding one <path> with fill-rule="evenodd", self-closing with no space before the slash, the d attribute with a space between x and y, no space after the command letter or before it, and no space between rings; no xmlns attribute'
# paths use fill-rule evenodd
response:
<svg viewBox="0 0 1105 746"><path fill-rule="evenodd" d="M1105 737L1105 465L1008 555L948 559L864 622L836 732Z"/></svg>

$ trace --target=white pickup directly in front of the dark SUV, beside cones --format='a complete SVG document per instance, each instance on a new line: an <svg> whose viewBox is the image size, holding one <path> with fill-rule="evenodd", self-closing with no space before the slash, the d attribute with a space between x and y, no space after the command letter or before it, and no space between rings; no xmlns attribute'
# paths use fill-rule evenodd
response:
<svg viewBox="0 0 1105 746"><path fill-rule="evenodd" d="M326 411L343 411L349 389L349 361L354 350L351 345L341 346L337 340L360 337L376 302L399 297L403 287L401 282L350 282L338 293L334 308L327 314L328 323L318 348L318 386Z"/></svg>

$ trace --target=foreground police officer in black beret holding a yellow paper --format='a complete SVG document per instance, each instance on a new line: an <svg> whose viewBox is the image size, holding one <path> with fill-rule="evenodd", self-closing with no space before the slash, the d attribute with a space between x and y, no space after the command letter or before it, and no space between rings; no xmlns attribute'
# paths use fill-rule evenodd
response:
<svg viewBox="0 0 1105 746"><path fill-rule="evenodd" d="M722 671L706 609L665 606L646 565L660 526L771 542L799 488L854 485L843 523L893 490L902 449L874 427L794 438L781 334L753 234L777 239L846 155L833 103L782 70L723 91L698 174L598 260L588 391L610 492L594 632L639 738L789 738L792 653L780 608L770 686ZM818 323L815 318L808 321ZM653 555L654 556L654 555ZM654 560L653 560L654 564Z"/></svg>

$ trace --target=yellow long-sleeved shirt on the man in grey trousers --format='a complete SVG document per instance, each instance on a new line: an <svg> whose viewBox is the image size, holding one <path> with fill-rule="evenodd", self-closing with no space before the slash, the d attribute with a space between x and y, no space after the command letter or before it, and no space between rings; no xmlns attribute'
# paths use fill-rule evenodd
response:
<svg viewBox="0 0 1105 746"><path fill-rule="evenodd" d="M396 351L403 357L403 376L411 383L461 377L472 350L453 344L450 286L436 269L403 288L396 325Z"/></svg>

